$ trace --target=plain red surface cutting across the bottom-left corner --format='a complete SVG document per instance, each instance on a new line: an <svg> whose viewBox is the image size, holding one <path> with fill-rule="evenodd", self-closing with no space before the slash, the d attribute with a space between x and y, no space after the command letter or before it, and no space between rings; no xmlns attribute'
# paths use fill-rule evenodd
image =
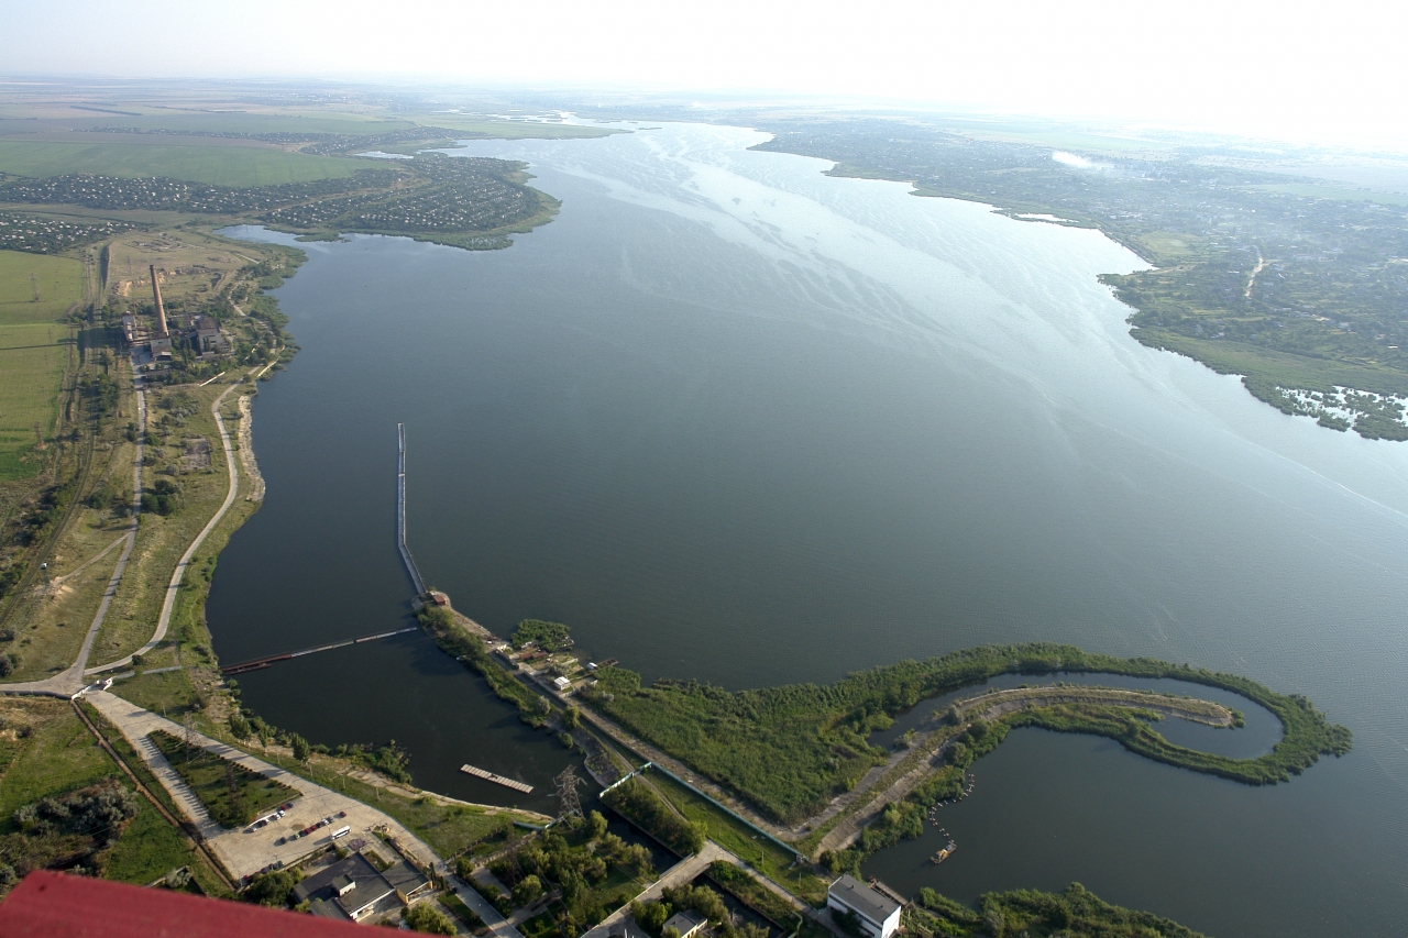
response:
<svg viewBox="0 0 1408 938"><path fill-rule="evenodd" d="M0 938L353 938L362 925L35 870L0 903Z"/></svg>

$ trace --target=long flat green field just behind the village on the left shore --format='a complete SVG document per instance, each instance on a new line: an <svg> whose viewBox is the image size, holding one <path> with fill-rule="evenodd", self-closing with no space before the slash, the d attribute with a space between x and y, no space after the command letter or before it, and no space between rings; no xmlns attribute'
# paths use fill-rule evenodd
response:
<svg viewBox="0 0 1408 938"><path fill-rule="evenodd" d="M168 176L242 187L339 179L351 176L358 168L346 159L293 154L270 146L231 146L211 138L200 142L203 138L199 137L153 135L152 139L162 142L0 139L0 172L17 176ZM182 142L165 142L169 139Z"/></svg>

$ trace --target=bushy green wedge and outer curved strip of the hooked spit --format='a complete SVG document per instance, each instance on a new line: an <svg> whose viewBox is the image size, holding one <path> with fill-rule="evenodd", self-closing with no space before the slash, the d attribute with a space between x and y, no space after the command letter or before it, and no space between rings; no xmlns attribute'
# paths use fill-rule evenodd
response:
<svg viewBox="0 0 1408 938"><path fill-rule="evenodd" d="M642 687L622 668L600 673L583 699L632 732L729 786L759 810L796 823L850 789L886 753L866 738L921 700L1002 673L1100 672L1173 677L1242 694L1274 713L1284 728L1276 748L1256 759L1207 756L1162 737L1131 737L1140 753L1249 784L1284 782L1321 755L1343 755L1352 735L1301 696L1207 669L1150 658L1094 655L1067 645L990 645L928 661L855 673L835 684L793 684L728 692L697 682L659 680ZM1152 731L1150 731L1152 732ZM1129 734L1125 734L1129 737Z"/></svg>

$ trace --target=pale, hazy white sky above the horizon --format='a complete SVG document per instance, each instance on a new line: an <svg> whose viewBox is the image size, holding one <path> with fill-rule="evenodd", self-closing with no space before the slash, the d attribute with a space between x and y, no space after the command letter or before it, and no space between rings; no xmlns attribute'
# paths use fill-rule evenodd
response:
<svg viewBox="0 0 1408 938"><path fill-rule="evenodd" d="M0 0L0 72L531 83L1408 151L1408 4Z"/></svg>

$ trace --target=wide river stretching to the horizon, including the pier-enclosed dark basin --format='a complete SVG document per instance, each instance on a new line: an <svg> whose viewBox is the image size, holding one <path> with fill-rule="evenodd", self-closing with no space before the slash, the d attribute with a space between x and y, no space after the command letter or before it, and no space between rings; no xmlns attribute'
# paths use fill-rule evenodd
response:
<svg viewBox="0 0 1408 938"><path fill-rule="evenodd" d="M1224 938L1402 935L1408 445L1136 344L1095 277L1140 261L1098 232L762 139L479 141L455 152L527 161L560 215L505 251L303 245L277 292L303 351L255 407L268 499L210 599L221 659L411 621L403 421L420 568L500 634L563 621L597 659L734 689L1062 641L1249 675L1354 731L1264 789L1018 731L939 813L952 861L926 862L936 831L873 858L893 886L1079 880ZM551 810L570 761L421 635L242 684L476 801Z"/></svg>

